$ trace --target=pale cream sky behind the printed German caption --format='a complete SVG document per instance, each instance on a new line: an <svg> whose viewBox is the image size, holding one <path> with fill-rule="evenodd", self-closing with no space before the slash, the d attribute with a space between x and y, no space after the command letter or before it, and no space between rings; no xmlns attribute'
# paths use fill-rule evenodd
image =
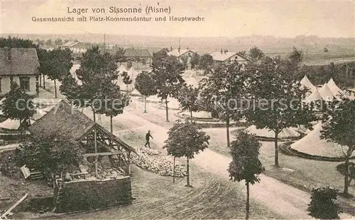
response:
<svg viewBox="0 0 355 220"><path fill-rule="evenodd" d="M160 37L239 37L274 35L295 37L355 37L355 1L83 1L0 0L1 33L81 34L107 33ZM158 5L159 4L159 5ZM142 8L143 13L109 13L109 7ZM170 14L146 15L146 6L170 7ZM72 8L88 8L80 16ZM105 8L106 13L92 13ZM51 17L200 16L200 22L33 22Z"/></svg>

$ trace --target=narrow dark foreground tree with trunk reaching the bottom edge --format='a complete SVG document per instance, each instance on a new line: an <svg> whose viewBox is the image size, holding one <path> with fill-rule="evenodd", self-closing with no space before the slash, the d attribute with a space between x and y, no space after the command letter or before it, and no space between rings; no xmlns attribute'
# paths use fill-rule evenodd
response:
<svg viewBox="0 0 355 220"><path fill-rule="evenodd" d="M246 219L249 219L249 184L259 183L258 175L265 170L259 161L261 143L253 135L239 132L236 141L231 142L229 178L232 181L245 180L246 184Z"/></svg>

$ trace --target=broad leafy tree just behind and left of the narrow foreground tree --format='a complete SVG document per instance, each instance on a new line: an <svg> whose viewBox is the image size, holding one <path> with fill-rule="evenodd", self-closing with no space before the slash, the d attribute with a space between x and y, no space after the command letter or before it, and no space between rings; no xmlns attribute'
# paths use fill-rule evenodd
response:
<svg viewBox="0 0 355 220"><path fill-rule="evenodd" d="M231 62L207 71L207 77L199 83L201 91L201 108L208 112L217 111L219 119L226 122L226 141L230 146L229 125L231 119L241 120L241 102L246 97L244 81L246 81L241 64Z"/></svg>

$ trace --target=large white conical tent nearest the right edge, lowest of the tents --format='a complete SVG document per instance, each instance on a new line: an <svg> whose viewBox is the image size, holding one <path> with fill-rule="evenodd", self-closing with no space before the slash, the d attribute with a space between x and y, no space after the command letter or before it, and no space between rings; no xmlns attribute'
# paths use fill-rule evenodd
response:
<svg viewBox="0 0 355 220"><path fill-rule="evenodd" d="M342 146L332 142L327 142L324 139L320 139L320 131L322 130L322 123L317 124L313 131L302 139L298 140L294 144L291 144L291 148L297 151L317 155L317 156L329 156L329 157L341 157ZM344 151L347 147L343 146Z"/></svg>

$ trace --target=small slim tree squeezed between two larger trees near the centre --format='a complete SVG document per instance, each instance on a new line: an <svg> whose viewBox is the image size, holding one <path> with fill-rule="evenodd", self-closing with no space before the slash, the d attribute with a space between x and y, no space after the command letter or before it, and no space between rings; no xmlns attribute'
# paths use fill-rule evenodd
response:
<svg viewBox="0 0 355 220"><path fill-rule="evenodd" d="M191 115L191 122L193 120L192 112L199 110L199 89L192 86L182 86L178 95L178 101L182 110L188 110Z"/></svg>

